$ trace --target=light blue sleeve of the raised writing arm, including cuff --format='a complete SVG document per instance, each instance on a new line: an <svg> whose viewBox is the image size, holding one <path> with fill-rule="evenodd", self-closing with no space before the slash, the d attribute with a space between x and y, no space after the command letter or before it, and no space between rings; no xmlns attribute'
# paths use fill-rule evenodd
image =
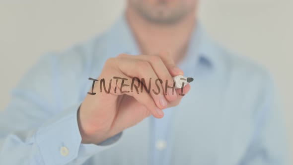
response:
<svg viewBox="0 0 293 165"><path fill-rule="evenodd" d="M98 145L81 144L77 123L81 102L72 97L72 105L60 105L58 93L63 91L58 81L62 80L56 80L54 71L60 70L54 62L54 56L42 57L0 112L0 165L80 165L116 145L122 136L119 133Z"/></svg>

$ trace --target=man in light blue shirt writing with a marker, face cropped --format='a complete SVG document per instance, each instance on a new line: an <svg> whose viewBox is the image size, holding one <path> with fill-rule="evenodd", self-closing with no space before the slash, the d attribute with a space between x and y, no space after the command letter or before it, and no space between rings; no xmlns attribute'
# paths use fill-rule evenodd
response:
<svg viewBox="0 0 293 165"><path fill-rule="evenodd" d="M284 165L268 73L209 39L197 0L127 2L109 31L23 77L0 115L0 164ZM177 75L194 78L185 96ZM129 91L133 78L158 94Z"/></svg>

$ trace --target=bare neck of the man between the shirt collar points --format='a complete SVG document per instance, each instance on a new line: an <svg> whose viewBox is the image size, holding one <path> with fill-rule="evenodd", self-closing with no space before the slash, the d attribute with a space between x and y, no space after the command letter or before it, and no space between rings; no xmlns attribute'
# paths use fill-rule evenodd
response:
<svg viewBox="0 0 293 165"><path fill-rule="evenodd" d="M136 37L142 54L154 55L167 51L176 63L180 62L188 48L195 27L195 12L191 12L176 24L155 24L142 18L131 8L126 10L127 21Z"/></svg>

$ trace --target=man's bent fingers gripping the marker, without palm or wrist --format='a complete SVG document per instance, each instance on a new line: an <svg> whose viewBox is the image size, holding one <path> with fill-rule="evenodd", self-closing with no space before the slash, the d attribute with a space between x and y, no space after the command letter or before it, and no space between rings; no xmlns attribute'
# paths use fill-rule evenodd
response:
<svg viewBox="0 0 293 165"><path fill-rule="evenodd" d="M117 70L116 73L121 74L121 78L127 79L125 79L124 84L129 85L128 89L132 86L131 81L136 79L135 82L137 89L135 88L130 92L119 94L133 96L138 102L145 105L150 113L156 118L163 117L162 109L178 105L181 100L181 89L175 89L173 93L175 99L170 99L171 97L174 97L170 94L172 93L172 76L183 74L183 72L180 69L174 69L176 67L173 59L167 54L163 53L160 54L160 56L131 56L122 54L117 58L107 60L104 68L109 68L111 70L115 68ZM171 73L173 75L171 75ZM112 74L113 73L111 73L111 75ZM142 81L143 79L144 81ZM166 80L168 81L167 84ZM165 88L166 85L168 85L168 88ZM169 91L169 95L165 95L166 89L171 91ZM189 89L190 85L187 84L183 88L182 93L186 94ZM121 89L119 88L119 90Z"/></svg>

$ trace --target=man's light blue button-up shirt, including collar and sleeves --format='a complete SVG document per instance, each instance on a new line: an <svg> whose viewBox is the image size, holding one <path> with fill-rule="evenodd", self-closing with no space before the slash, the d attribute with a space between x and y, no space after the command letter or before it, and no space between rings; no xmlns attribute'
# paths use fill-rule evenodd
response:
<svg viewBox="0 0 293 165"><path fill-rule="evenodd" d="M0 114L0 165L285 164L283 119L268 72L222 49L200 24L179 64L194 78L181 103L162 119L81 144L76 112L88 78L121 53L140 54L124 16L98 37L42 56Z"/></svg>

